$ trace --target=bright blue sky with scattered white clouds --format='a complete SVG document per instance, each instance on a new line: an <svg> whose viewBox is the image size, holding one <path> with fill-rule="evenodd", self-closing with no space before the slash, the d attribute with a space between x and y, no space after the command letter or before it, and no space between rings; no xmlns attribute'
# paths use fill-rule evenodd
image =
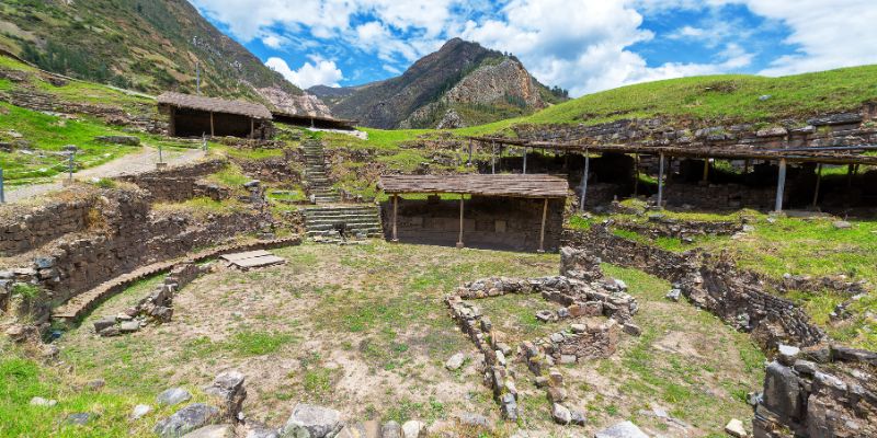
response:
<svg viewBox="0 0 877 438"><path fill-rule="evenodd" d="M190 1L303 88L398 76L452 37L512 53L573 96L877 64L875 0Z"/></svg>

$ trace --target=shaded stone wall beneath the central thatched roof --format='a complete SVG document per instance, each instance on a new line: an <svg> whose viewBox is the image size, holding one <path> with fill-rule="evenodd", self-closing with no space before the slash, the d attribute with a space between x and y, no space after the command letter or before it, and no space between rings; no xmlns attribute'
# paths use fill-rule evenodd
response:
<svg viewBox="0 0 877 438"><path fill-rule="evenodd" d="M470 247L535 251L539 246L543 199L479 197L464 201L463 242ZM563 199L551 199L545 250L557 251L563 229ZM384 233L392 238L392 203L381 204ZM397 230L402 242L455 245L459 200L399 199Z"/></svg>

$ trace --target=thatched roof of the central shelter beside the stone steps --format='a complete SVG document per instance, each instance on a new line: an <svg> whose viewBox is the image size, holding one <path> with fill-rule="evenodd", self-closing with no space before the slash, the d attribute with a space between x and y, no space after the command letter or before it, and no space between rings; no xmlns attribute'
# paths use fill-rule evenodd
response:
<svg viewBox="0 0 877 438"><path fill-rule="evenodd" d="M459 193L481 196L565 198L567 181L550 175L383 175L378 187L387 194Z"/></svg>

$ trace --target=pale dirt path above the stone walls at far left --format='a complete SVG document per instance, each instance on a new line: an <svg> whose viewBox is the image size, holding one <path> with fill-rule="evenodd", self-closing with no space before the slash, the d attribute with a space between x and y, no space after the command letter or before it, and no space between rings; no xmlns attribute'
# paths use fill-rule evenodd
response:
<svg viewBox="0 0 877 438"><path fill-rule="evenodd" d="M200 149L162 151L166 162L170 165L185 164L204 157L204 151ZM83 169L73 173L77 180L88 180L91 177L112 177L123 174L144 173L156 169L158 162L158 149L144 146L143 150L129 153L117 160L113 160L94 168ZM55 182L46 184L34 184L21 187L8 187L5 193L7 203L15 203L30 199L35 196L60 189L61 181L67 174L58 175Z"/></svg>

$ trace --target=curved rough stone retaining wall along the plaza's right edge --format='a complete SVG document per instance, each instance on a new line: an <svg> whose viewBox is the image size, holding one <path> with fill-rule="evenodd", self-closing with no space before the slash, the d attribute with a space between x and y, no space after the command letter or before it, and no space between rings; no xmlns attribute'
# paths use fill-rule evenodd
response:
<svg viewBox="0 0 877 438"><path fill-rule="evenodd" d="M664 251L617 237L603 226L594 226L586 232L567 231L563 244L673 283L695 306L752 333L765 349L781 343L815 345L825 336L791 301L765 291L770 285L763 277L740 272L726 258Z"/></svg>

